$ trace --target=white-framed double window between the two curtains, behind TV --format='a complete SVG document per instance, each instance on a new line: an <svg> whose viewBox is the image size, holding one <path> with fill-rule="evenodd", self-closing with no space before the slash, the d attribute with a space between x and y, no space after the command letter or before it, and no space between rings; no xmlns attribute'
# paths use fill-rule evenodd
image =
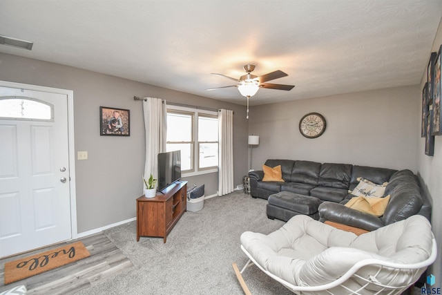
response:
<svg viewBox="0 0 442 295"><path fill-rule="evenodd" d="M218 169L218 113L168 106L166 151L181 151L184 174Z"/></svg>

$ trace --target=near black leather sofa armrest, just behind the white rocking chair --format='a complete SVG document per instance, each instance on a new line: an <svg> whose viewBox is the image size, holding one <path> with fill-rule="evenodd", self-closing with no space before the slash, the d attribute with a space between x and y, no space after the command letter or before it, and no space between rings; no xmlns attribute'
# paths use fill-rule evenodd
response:
<svg viewBox="0 0 442 295"><path fill-rule="evenodd" d="M329 220L350 227L366 229L367 231L374 231L384 226L381 218L335 202L323 202L319 205L318 211L320 220L323 222Z"/></svg>

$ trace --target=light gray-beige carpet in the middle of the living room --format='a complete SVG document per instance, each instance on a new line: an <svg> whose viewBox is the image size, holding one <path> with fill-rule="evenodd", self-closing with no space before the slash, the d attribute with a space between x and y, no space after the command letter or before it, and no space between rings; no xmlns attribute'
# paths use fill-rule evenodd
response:
<svg viewBox="0 0 442 295"><path fill-rule="evenodd" d="M247 263L240 235L269 234L284 224L267 218L266 204L242 191L210 198L201 211L184 213L166 244L162 238L137 242L135 222L108 229L106 236L134 266L77 294L243 294L232 268L233 262L240 268ZM293 294L255 266L244 280L252 294Z"/></svg>

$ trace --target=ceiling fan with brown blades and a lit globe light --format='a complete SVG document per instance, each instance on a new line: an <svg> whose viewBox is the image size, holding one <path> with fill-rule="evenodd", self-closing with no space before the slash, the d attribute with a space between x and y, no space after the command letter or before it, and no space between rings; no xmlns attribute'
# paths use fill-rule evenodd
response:
<svg viewBox="0 0 442 295"><path fill-rule="evenodd" d="M247 97L247 119L249 119L249 98L252 97L253 95L256 95L259 88L269 88L269 89L285 90L285 91L291 91L291 89L294 88L294 85L266 83L274 79L288 76L286 73L282 72L282 70L275 70L274 72L267 73L265 75L256 76L251 74L251 72L253 72L253 70L255 69L254 64L247 64L243 66L243 68L247 74L242 75L240 79L235 79L222 74L211 73L212 75L218 75L236 81L238 82L238 85L209 88L206 90L213 91L215 89L220 89L220 88L238 87L238 91L240 91L241 95Z"/></svg>

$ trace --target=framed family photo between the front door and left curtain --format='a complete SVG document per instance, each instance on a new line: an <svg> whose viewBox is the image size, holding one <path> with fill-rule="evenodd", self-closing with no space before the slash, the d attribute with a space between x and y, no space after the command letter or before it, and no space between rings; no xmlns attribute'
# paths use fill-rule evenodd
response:
<svg viewBox="0 0 442 295"><path fill-rule="evenodd" d="M99 135L131 135L131 113L129 110L100 106L99 124Z"/></svg>

